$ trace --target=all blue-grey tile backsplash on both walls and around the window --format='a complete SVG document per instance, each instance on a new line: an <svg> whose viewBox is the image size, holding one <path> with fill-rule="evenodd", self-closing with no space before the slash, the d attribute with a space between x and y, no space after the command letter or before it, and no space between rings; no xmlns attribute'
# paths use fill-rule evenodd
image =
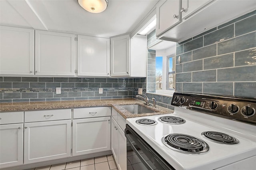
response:
<svg viewBox="0 0 256 170"><path fill-rule="evenodd" d="M256 97L255 20L253 11L177 44L176 91ZM155 34L148 47L158 41ZM150 103L154 97L157 105L174 109L171 97L146 93L146 85L155 88L154 65L155 51L148 50L148 78L0 77L0 102L135 98L143 88Z"/></svg>

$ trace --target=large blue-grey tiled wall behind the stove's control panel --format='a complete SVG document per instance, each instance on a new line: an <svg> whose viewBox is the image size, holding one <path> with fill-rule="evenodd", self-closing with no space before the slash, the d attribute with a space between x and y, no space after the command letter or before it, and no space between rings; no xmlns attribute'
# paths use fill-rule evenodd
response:
<svg viewBox="0 0 256 170"><path fill-rule="evenodd" d="M256 97L256 10L177 44L176 91Z"/></svg>

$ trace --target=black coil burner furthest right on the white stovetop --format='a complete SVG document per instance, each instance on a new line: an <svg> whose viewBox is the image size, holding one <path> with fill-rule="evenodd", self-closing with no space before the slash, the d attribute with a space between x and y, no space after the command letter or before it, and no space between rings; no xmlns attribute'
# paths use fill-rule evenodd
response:
<svg viewBox="0 0 256 170"><path fill-rule="evenodd" d="M238 144L239 140L221 132L207 131L201 134L204 138L220 144Z"/></svg>

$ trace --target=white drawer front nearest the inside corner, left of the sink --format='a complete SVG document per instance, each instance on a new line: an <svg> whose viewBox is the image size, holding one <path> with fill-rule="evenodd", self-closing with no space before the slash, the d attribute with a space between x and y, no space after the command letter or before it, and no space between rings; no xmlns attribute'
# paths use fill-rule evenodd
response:
<svg viewBox="0 0 256 170"><path fill-rule="evenodd" d="M74 119L111 116L111 107L77 108L74 109Z"/></svg>

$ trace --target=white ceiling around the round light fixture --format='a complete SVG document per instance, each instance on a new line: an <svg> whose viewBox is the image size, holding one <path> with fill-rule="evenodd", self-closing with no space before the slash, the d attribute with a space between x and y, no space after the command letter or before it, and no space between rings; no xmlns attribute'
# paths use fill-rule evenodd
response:
<svg viewBox="0 0 256 170"><path fill-rule="evenodd" d="M109 0L93 14L77 0L0 0L0 25L99 37L131 33L158 0Z"/></svg>

